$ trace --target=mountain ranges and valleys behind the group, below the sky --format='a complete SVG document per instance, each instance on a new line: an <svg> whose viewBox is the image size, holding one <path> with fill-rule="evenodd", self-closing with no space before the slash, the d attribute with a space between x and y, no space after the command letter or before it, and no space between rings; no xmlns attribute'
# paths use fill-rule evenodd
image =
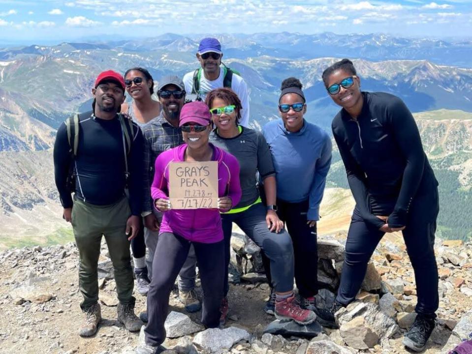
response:
<svg viewBox="0 0 472 354"><path fill-rule="evenodd" d="M96 75L142 66L156 84L169 73L183 76L198 67L195 52L204 36L0 49L0 249L71 240L54 184L52 146L65 118L90 109ZM401 97L417 120L440 182L439 236L472 235L472 41L287 32L217 37L223 62L248 83L256 129L278 118L280 83L295 76L308 100L305 117L330 131L339 108L321 73L336 60L353 59L362 89ZM319 230L345 231L353 200L337 151L328 187Z"/></svg>

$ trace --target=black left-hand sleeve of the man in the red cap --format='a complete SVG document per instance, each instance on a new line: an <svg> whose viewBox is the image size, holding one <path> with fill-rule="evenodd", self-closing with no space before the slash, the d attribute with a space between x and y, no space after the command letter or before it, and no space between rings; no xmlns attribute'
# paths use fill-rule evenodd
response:
<svg viewBox="0 0 472 354"><path fill-rule="evenodd" d="M65 123L59 126L56 141L54 142L54 178L59 192L61 205L64 208L70 208L73 205L71 191L67 187L67 177L69 175L70 165L73 163L71 153L69 152L69 142L67 141L67 131Z"/></svg>

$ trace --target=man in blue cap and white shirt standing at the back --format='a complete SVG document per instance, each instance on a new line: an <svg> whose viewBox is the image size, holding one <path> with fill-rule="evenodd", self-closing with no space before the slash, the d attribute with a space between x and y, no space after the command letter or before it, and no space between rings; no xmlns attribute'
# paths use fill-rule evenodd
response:
<svg viewBox="0 0 472 354"><path fill-rule="evenodd" d="M220 67L221 44L216 38L203 38L198 46L196 54L201 68L190 71L184 76L184 84L187 93L196 94L201 100L205 100L208 92L213 89L227 87L232 89L241 100L243 109L241 110L240 125L245 127L249 124L249 91L243 78L227 68Z"/></svg>

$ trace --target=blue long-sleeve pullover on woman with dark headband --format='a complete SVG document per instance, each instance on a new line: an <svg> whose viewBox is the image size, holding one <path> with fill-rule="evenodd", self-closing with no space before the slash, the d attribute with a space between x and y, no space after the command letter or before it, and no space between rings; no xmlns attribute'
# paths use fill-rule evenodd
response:
<svg viewBox="0 0 472 354"><path fill-rule="evenodd" d="M287 131L281 119L262 129L269 144L277 178L277 198L288 203L309 200L307 220L319 220L326 176L331 165L331 139L315 124L303 121L296 133Z"/></svg>

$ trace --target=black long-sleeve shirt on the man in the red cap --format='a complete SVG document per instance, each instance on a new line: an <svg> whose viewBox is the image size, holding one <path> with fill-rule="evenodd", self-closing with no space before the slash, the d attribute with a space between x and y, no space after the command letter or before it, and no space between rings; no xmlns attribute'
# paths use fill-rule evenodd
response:
<svg viewBox="0 0 472 354"><path fill-rule="evenodd" d="M79 145L75 161L69 152L65 123L61 124L54 143L54 175L64 208L72 207L66 178L69 165L77 171L75 198L98 206L118 202L125 195L125 149L118 116L111 120L95 118L91 112L79 116ZM134 136L127 155L129 171L129 207L132 215L142 209L144 140L133 123ZM131 137L130 137L131 139Z"/></svg>

